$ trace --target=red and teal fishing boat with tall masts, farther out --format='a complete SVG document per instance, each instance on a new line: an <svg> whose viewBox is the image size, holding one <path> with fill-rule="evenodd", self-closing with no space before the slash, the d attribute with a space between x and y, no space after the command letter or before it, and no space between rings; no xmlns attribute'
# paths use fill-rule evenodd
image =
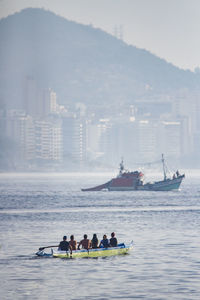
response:
<svg viewBox="0 0 200 300"><path fill-rule="evenodd" d="M180 174L177 170L172 177L167 177L167 166L162 154L163 180L144 183L144 174L140 171L129 172L125 170L123 159L120 163L119 174L110 181L87 189L83 192L90 191L171 191L178 190L185 174Z"/></svg>

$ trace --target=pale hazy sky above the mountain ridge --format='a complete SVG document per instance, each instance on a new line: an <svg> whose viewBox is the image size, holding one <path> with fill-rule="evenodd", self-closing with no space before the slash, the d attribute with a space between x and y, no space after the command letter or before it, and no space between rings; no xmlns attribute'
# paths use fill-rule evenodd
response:
<svg viewBox="0 0 200 300"><path fill-rule="evenodd" d="M0 17L43 7L114 33L184 69L200 66L200 0L0 0Z"/></svg>

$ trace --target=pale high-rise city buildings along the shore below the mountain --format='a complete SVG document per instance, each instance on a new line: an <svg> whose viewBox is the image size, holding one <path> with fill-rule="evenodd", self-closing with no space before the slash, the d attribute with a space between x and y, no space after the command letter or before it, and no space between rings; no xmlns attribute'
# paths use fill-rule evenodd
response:
<svg viewBox="0 0 200 300"><path fill-rule="evenodd" d="M198 158L198 95L138 102L100 118L98 109L59 105L56 92L39 88L34 78L24 89L23 110L0 110L1 139L13 148L2 170L107 170L121 157L129 167L142 167L161 153L182 166Z"/></svg>

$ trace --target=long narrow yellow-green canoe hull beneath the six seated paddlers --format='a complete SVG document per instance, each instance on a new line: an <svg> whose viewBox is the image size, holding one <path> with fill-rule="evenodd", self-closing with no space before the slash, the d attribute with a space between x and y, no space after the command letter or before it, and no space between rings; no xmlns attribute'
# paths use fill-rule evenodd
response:
<svg viewBox="0 0 200 300"><path fill-rule="evenodd" d="M51 249L51 253L40 250L36 253L42 257L60 257L60 258L83 258L83 257L106 257L114 255L127 254L133 248L133 241L130 244L118 244L117 247L97 248L97 249L81 249L70 251L60 251Z"/></svg>

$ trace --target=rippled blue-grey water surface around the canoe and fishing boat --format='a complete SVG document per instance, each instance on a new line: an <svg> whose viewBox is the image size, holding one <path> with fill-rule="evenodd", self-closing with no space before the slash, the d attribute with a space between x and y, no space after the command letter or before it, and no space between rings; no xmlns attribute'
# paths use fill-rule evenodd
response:
<svg viewBox="0 0 200 300"><path fill-rule="evenodd" d="M200 299L200 178L177 192L81 192L110 175L0 175L1 299ZM63 235L134 241L124 256L38 258Z"/></svg>

